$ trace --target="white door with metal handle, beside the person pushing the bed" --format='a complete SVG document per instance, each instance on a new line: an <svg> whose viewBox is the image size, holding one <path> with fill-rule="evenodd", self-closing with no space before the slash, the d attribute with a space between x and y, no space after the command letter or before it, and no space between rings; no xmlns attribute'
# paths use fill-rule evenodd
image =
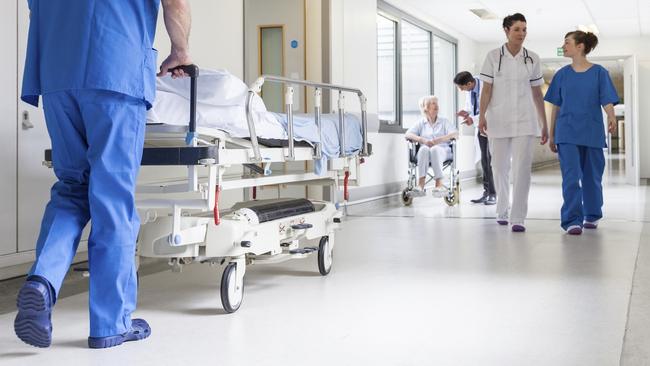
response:
<svg viewBox="0 0 650 366"><path fill-rule="evenodd" d="M15 14L15 12L13 13ZM29 8L27 1L18 1L18 92L22 89ZM15 81L14 81L15 82ZM14 99L15 100L15 99ZM18 251L33 250L40 230L43 210L50 199L55 182L52 169L43 166L43 151L50 148L43 109L18 101L18 121L29 115L31 128L18 129Z"/></svg>

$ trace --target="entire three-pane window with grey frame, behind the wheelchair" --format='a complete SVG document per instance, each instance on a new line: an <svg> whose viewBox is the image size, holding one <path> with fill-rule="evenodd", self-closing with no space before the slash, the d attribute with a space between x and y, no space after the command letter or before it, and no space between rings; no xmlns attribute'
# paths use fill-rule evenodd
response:
<svg viewBox="0 0 650 366"><path fill-rule="evenodd" d="M455 120L456 40L379 0L377 97L380 132L403 133L420 118L418 101L434 94L440 115Z"/></svg>

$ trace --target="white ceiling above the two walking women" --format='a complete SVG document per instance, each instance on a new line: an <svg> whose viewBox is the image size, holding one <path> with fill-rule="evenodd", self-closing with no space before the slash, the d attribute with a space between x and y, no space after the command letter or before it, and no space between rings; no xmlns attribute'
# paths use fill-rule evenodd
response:
<svg viewBox="0 0 650 366"><path fill-rule="evenodd" d="M528 40L562 38L578 25L595 24L599 38L650 36L650 0L392 0L418 16L426 14L477 42L504 38L501 22L512 13L522 13L528 23ZM615 6L613 6L615 4ZM488 9L498 19L481 20L469 9Z"/></svg>

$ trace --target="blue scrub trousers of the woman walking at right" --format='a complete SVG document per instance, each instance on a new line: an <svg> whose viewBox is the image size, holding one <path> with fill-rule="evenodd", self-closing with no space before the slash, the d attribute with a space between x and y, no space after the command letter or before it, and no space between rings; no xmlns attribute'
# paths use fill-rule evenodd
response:
<svg viewBox="0 0 650 366"><path fill-rule="evenodd" d="M603 149L573 144L558 144L557 149L564 198L562 228L599 220L603 217Z"/></svg>

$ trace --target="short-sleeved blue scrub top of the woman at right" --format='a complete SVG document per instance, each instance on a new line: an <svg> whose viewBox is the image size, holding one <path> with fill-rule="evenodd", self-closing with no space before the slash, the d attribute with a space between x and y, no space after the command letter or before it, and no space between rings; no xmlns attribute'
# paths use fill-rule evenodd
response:
<svg viewBox="0 0 650 366"><path fill-rule="evenodd" d="M594 64L576 72L571 65L553 77L544 97L560 107L555 122L555 143L604 148L605 127L601 106L618 104L618 95L607 70Z"/></svg>

